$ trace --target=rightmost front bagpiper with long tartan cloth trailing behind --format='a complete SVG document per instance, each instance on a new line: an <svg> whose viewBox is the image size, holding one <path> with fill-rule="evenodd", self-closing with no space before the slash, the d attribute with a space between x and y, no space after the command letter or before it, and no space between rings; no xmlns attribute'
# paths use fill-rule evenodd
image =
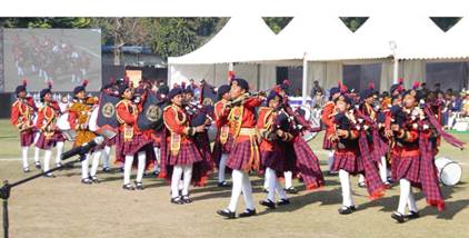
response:
<svg viewBox="0 0 469 238"><path fill-rule="evenodd" d="M438 148L431 140L441 136L450 145L463 148L461 141L441 128L429 105L418 106L421 93L416 89L403 93L402 108L395 106L391 109L393 122L388 131L396 141L392 147L392 162L397 163L393 179L399 180L400 197L398 209L391 217L398 222L419 217L412 187L421 188L428 205L445 209L433 162ZM405 215L406 207L409 208L408 215Z"/></svg>

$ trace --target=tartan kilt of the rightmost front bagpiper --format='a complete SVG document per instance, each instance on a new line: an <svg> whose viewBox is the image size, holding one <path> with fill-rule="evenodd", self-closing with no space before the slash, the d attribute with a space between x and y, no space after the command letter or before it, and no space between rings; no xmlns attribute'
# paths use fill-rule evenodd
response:
<svg viewBox="0 0 469 238"><path fill-rule="evenodd" d="M421 165L419 156L401 157L399 159L399 163L396 166L397 166L396 181L405 178L415 186L418 186L421 184L420 166L422 165Z"/></svg>

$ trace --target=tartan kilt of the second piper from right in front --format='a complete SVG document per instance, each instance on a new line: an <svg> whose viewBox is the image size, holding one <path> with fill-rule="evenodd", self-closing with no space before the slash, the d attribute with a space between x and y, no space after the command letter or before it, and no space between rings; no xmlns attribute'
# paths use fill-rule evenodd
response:
<svg viewBox="0 0 469 238"><path fill-rule="evenodd" d="M350 175L363 173L363 161L361 156L355 151L340 151L333 153L332 171L343 169Z"/></svg>

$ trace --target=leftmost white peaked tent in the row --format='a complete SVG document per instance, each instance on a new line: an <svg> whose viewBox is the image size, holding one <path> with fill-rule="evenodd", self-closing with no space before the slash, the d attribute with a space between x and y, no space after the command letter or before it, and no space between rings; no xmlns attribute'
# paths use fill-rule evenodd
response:
<svg viewBox="0 0 469 238"><path fill-rule="evenodd" d="M227 82L227 72L234 70L252 88L268 88L275 83L276 68L256 62L263 59L267 50L272 50L265 44L272 42L275 37L260 17L232 17L217 36L199 49L168 59L169 83L193 78L222 85Z"/></svg>

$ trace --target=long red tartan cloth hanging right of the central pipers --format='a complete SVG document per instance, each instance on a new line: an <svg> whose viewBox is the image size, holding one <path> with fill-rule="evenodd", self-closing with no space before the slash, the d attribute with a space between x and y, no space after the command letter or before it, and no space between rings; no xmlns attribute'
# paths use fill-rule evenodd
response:
<svg viewBox="0 0 469 238"><path fill-rule="evenodd" d="M300 135L295 137L292 143L297 157L296 167L301 173L307 190L322 187L325 185L325 178L318 157Z"/></svg>

